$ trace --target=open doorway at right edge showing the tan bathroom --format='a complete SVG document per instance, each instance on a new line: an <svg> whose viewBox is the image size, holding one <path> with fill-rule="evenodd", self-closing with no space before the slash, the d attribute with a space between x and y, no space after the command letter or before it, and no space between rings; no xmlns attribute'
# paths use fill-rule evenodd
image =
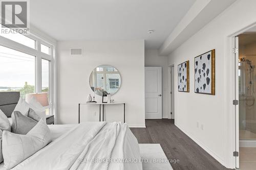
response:
<svg viewBox="0 0 256 170"><path fill-rule="evenodd" d="M256 165L256 32L236 37L238 47L239 167ZM236 53L236 52L235 52Z"/></svg>

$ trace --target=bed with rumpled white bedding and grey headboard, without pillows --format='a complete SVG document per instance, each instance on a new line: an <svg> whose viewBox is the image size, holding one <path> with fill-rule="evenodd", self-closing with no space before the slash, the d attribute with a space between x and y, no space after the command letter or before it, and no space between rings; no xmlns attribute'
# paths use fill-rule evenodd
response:
<svg viewBox="0 0 256 170"><path fill-rule="evenodd" d="M19 92L0 92L0 109L10 117ZM52 142L12 169L142 169L139 145L126 124L83 122L48 125ZM4 163L0 164L4 169Z"/></svg>

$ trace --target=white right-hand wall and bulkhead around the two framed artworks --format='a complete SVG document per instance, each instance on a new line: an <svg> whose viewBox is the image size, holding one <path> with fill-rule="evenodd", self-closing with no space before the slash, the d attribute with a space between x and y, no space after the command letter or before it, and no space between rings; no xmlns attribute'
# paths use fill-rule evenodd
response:
<svg viewBox="0 0 256 170"><path fill-rule="evenodd" d="M256 22L256 1L236 1L169 55L175 64L175 124L223 165L234 168L231 38ZM216 49L216 95L194 92L194 57ZM177 90L177 65L190 61L190 92ZM199 128L197 127L199 123ZM203 130L201 129L203 126Z"/></svg>

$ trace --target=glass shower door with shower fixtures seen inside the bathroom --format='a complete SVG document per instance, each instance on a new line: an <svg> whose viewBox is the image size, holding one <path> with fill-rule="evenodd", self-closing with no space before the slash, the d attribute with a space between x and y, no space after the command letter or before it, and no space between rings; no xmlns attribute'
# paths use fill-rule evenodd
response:
<svg viewBox="0 0 256 170"><path fill-rule="evenodd" d="M240 140L256 139L256 107L254 104L254 78L256 75L254 75L254 63L252 59L246 56L246 58L241 58L239 62Z"/></svg>

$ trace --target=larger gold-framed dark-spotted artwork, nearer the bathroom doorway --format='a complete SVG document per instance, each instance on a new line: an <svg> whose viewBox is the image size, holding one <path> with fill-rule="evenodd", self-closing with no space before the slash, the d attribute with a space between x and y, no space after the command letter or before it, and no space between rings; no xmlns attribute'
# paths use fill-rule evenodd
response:
<svg viewBox="0 0 256 170"><path fill-rule="evenodd" d="M215 50L195 57L195 93L215 95Z"/></svg>

